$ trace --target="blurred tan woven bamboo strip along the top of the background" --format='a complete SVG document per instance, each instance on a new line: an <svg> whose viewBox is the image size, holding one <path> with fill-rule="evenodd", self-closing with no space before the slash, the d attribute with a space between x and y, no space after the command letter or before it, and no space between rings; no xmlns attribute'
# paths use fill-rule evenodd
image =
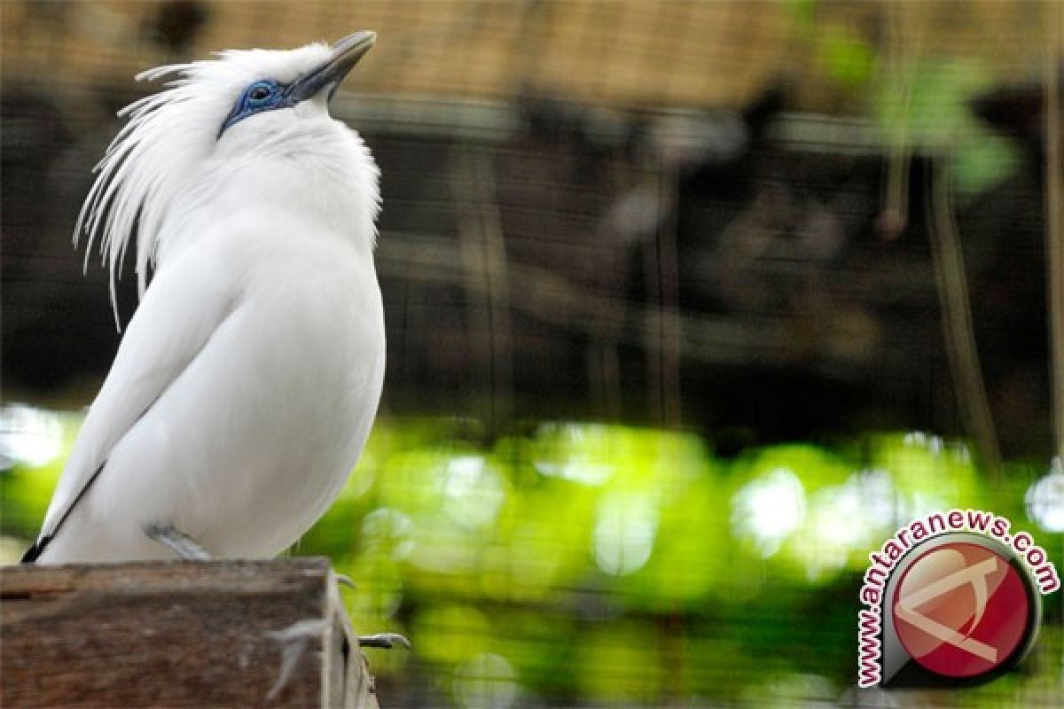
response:
<svg viewBox="0 0 1064 709"><path fill-rule="evenodd" d="M3 52L7 78L47 77L74 90L217 49L285 48L368 28L380 39L359 75L366 92L534 89L626 107L735 107L783 80L803 107L831 112L847 105L846 91L816 68L839 43L857 38L882 56L975 57L1016 80L1038 67L1044 13L1034 0L5 1ZM160 40L189 20L200 31L187 44Z"/></svg>

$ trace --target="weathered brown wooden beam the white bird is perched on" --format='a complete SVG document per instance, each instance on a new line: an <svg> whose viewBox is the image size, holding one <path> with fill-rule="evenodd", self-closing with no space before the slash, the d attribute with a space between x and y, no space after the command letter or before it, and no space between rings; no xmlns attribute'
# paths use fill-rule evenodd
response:
<svg viewBox="0 0 1064 709"><path fill-rule="evenodd" d="M325 559L0 569L0 688L6 709L378 706Z"/></svg>

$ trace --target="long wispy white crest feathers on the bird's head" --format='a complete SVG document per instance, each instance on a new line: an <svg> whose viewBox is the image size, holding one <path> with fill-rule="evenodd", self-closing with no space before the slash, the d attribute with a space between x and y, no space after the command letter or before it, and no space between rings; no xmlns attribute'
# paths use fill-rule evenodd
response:
<svg viewBox="0 0 1064 709"><path fill-rule="evenodd" d="M330 54L316 43L293 50L229 50L216 58L148 69L137 81L169 78L164 89L118 112L127 124L112 140L78 215L73 240L87 236L85 268L94 243L111 273L111 301L118 321L116 282L121 275L130 241L136 239L137 290L144 296L149 273L167 231L174 201L202 180L201 168L219 145L219 128L242 89L256 79L286 83ZM379 209L377 168L366 154L375 180L363 187L371 217Z"/></svg>

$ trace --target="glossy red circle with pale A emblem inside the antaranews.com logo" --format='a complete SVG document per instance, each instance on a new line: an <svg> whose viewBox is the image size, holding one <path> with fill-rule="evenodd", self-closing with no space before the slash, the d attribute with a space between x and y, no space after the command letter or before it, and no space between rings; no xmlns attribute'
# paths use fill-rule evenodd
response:
<svg viewBox="0 0 1064 709"><path fill-rule="evenodd" d="M949 542L905 569L891 606L910 657L946 677L1003 664L1024 641L1031 601L1020 572L981 544Z"/></svg>

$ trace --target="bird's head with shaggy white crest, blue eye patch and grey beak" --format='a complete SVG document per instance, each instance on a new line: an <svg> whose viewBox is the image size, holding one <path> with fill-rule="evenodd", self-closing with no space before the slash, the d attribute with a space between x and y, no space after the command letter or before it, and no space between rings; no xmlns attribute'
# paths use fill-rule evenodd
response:
<svg viewBox="0 0 1064 709"><path fill-rule="evenodd" d="M97 179L78 218L88 251L99 238L111 267L112 300L129 241L136 234L142 293L166 240L176 202L205 178L256 156L298 161L329 150L349 167L350 193L360 195L369 218L379 202L377 167L353 131L329 116L329 100L373 46L372 32L356 32L330 46L292 50L230 50L215 58L149 69L137 80L168 79L164 89L122 108L128 122L96 166ZM346 154L336 154L346 153ZM325 166L325 167L328 167Z"/></svg>

